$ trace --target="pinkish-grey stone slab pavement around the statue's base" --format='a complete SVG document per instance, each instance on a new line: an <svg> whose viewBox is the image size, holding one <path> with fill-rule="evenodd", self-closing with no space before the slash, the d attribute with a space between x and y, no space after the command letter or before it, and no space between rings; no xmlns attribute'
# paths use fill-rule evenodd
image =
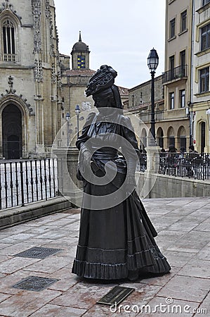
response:
<svg viewBox="0 0 210 317"><path fill-rule="evenodd" d="M143 199L171 273L101 283L71 273L79 209L0 231L0 316L210 316L210 198ZM61 249L45 259L14 256L32 247ZM34 292L14 288L30 276L57 282ZM115 285L135 291L119 306L96 304Z"/></svg>

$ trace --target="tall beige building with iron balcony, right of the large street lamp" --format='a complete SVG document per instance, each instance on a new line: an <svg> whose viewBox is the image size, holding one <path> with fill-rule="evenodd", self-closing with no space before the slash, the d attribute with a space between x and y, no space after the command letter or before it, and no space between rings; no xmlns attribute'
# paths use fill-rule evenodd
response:
<svg viewBox="0 0 210 317"><path fill-rule="evenodd" d="M164 146L174 144L188 149L192 130L188 103L190 101L192 0L166 0Z"/></svg>

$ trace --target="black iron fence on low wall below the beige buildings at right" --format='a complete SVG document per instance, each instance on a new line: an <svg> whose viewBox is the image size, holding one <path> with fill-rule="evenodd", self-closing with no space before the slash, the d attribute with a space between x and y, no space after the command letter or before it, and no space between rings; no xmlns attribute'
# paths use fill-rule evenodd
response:
<svg viewBox="0 0 210 317"><path fill-rule="evenodd" d="M197 180L210 179L209 153L161 153L159 154L159 173Z"/></svg>

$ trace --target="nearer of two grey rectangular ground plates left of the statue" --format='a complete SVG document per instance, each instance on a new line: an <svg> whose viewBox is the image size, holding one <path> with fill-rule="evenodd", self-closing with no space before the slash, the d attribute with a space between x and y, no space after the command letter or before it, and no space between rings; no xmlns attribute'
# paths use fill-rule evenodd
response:
<svg viewBox="0 0 210 317"><path fill-rule="evenodd" d="M21 290L32 290L39 292L44 290L49 285L52 285L54 282L58 282L55 278L40 278L39 276L29 276L20 282L13 285L15 288L20 288Z"/></svg>

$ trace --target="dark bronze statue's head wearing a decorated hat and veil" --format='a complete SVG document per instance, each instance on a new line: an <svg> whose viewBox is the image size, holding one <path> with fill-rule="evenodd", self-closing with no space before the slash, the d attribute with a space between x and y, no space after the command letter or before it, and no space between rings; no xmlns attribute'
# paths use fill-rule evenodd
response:
<svg viewBox="0 0 210 317"><path fill-rule="evenodd" d="M97 108L123 108L119 89L114 85L115 77L117 72L111 66L103 65L89 80L86 97L92 95Z"/></svg>

